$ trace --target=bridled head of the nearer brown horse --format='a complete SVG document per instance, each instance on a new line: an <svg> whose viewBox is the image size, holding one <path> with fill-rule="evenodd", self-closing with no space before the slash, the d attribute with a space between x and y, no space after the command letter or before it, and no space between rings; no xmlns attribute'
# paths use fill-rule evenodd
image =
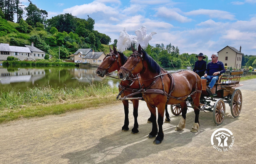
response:
<svg viewBox="0 0 256 164"><path fill-rule="evenodd" d="M143 53L141 51L141 45L139 45L138 50L136 51L132 47L132 54L128 57L125 64L118 71L118 77L121 80L126 80L129 77L135 77L143 69Z"/></svg>

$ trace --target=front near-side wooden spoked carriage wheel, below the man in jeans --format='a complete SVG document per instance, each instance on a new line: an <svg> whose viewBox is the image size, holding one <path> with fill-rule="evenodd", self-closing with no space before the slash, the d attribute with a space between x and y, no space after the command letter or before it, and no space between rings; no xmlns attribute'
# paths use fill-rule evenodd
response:
<svg viewBox="0 0 256 164"><path fill-rule="evenodd" d="M216 125L221 125L224 120L226 107L222 98L218 99L213 107L213 121Z"/></svg>

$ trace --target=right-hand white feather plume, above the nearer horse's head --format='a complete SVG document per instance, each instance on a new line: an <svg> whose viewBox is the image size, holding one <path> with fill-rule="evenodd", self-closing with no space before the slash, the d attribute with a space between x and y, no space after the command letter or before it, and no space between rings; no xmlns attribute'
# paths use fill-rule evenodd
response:
<svg viewBox="0 0 256 164"><path fill-rule="evenodd" d="M152 39L152 36L156 34L156 32L147 34L146 26L142 25L138 30L135 31L135 34L137 35L136 48L138 48L139 44L141 45L141 48L147 48L149 41Z"/></svg>

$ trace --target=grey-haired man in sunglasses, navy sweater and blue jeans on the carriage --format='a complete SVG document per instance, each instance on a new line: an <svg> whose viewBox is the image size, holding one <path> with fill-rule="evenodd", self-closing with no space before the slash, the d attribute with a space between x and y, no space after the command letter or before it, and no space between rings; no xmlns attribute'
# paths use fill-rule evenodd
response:
<svg viewBox="0 0 256 164"><path fill-rule="evenodd" d="M216 94L212 94L211 89L219 78L219 75L226 72L223 62L218 61L218 54L212 54L212 61L207 64L204 76L201 79L206 79L210 84L207 86L206 92L209 96L213 97Z"/></svg>

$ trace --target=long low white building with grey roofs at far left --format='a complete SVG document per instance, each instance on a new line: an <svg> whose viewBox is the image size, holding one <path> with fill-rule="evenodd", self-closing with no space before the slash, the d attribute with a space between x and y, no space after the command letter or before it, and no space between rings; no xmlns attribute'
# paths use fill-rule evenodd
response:
<svg viewBox="0 0 256 164"><path fill-rule="evenodd" d="M44 59L45 52L34 47L33 42L31 46L25 46L9 46L9 44L0 43L0 60L6 61L8 56L14 56L22 61Z"/></svg>

